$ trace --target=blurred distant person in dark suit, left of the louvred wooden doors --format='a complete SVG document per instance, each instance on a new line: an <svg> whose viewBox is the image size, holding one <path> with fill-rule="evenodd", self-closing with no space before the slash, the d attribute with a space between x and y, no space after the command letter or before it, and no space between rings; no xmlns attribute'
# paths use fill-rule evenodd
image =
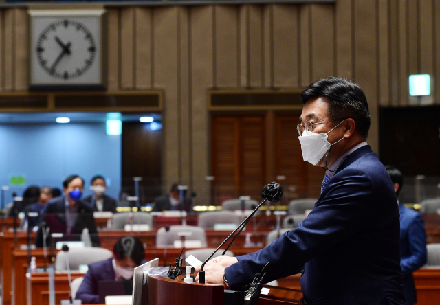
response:
<svg viewBox="0 0 440 305"><path fill-rule="evenodd" d="M179 190L179 184L171 185L170 192L166 195L157 196L153 201L153 212L184 210L190 212L191 199L185 196L185 190ZM183 198L183 199L182 199ZM182 203L183 200L183 204Z"/></svg>

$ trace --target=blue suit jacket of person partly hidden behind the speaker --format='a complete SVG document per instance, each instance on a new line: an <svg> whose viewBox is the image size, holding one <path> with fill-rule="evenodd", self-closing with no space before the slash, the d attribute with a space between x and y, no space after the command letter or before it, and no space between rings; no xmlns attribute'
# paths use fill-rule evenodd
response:
<svg viewBox="0 0 440 305"><path fill-rule="evenodd" d="M421 215L399 203L400 266L404 273L404 294L408 304L417 300L412 272L426 264L426 232Z"/></svg>

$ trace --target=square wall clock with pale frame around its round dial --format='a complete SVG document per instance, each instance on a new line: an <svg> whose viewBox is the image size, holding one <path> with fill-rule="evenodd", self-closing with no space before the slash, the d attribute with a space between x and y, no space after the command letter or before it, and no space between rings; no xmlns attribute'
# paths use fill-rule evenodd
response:
<svg viewBox="0 0 440 305"><path fill-rule="evenodd" d="M105 89L104 10L29 10L30 89Z"/></svg>

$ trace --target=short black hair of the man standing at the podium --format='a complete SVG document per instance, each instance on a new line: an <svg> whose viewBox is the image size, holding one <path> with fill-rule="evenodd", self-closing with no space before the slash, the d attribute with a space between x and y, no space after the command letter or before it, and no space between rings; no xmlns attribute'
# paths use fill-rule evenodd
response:
<svg viewBox="0 0 440 305"><path fill-rule="evenodd" d="M369 104L358 84L343 78L322 78L301 92L300 100L303 104L311 98L324 98L329 102L327 115L330 120L342 121L351 118L355 121L355 129L360 135L368 137L371 125Z"/></svg>

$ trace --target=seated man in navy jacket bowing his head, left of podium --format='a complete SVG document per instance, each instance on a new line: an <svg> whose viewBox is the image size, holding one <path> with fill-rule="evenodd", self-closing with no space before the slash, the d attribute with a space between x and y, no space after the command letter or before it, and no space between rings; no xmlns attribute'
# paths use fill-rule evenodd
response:
<svg viewBox="0 0 440 305"><path fill-rule="evenodd" d="M98 282L133 280L134 268L144 260L144 246L137 238L126 236L113 247L113 258L89 264L89 271L76 293L83 304L98 304Z"/></svg>

